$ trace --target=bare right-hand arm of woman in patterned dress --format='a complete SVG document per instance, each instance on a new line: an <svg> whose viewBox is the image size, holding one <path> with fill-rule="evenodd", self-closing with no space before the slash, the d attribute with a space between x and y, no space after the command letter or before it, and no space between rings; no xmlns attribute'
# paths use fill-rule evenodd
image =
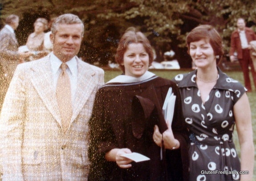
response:
<svg viewBox="0 0 256 181"><path fill-rule="evenodd" d="M240 179L241 181L251 181L254 165L254 145L251 109L245 93L236 102L233 111L241 149L241 171L249 171L248 175L240 175Z"/></svg>

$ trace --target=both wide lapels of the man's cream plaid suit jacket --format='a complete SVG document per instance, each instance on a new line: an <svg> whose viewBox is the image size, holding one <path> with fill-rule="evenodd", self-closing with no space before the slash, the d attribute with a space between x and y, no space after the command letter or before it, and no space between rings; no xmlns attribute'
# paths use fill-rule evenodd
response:
<svg viewBox="0 0 256 181"><path fill-rule="evenodd" d="M97 84L97 82L93 81L93 75L95 75L95 72L89 66L87 66L87 64L82 64L81 60L77 58L77 90L70 124L81 112L81 109L84 107L86 101L91 96L95 85ZM48 108L49 112L61 125L61 116L59 113L56 93L54 90L53 75L51 71L49 56L44 59L43 64L38 64L38 66L33 68L31 71L33 72L32 84L37 90L37 93L45 103L45 106Z"/></svg>

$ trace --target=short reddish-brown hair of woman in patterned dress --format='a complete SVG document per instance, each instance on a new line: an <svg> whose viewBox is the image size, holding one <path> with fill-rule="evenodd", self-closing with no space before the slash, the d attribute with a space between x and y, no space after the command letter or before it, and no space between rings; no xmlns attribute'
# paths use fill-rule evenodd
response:
<svg viewBox="0 0 256 181"><path fill-rule="evenodd" d="M222 38L220 37L217 30L208 24L199 25L198 27L192 29L191 32L188 33L187 35L188 54L190 51L190 43L199 41L202 39L209 40L215 56L219 56L219 58L216 58L216 63L219 64L224 54Z"/></svg>

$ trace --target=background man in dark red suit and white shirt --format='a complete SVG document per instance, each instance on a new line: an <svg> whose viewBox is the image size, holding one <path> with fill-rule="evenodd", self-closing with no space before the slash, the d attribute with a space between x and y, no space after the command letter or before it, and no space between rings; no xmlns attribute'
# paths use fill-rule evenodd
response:
<svg viewBox="0 0 256 181"><path fill-rule="evenodd" d="M256 87L256 72L252 64L250 56L251 45L250 41L256 40L255 32L248 27L245 27L243 18L237 20L237 29L231 35L231 47L229 51L230 60L235 60L234 52L237 52L237 58L244 74L244 84L248 92L252 91L251 81L249 77L249 66L251 67L253 82Z"/></svg>

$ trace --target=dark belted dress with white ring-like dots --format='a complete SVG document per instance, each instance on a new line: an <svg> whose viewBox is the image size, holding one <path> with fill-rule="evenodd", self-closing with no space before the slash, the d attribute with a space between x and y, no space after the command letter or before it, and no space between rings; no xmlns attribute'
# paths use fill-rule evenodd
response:
<svg viewBox="0 0 256 181"><path fill-rule="evenodd" d="M195 82L196 72L179 74L178 84L183 114L190 130L189 157L191 181L239 180L240 160L232 135L235 125L233 106L245 88L219 71L219 78L203 104Z"/></svg>

